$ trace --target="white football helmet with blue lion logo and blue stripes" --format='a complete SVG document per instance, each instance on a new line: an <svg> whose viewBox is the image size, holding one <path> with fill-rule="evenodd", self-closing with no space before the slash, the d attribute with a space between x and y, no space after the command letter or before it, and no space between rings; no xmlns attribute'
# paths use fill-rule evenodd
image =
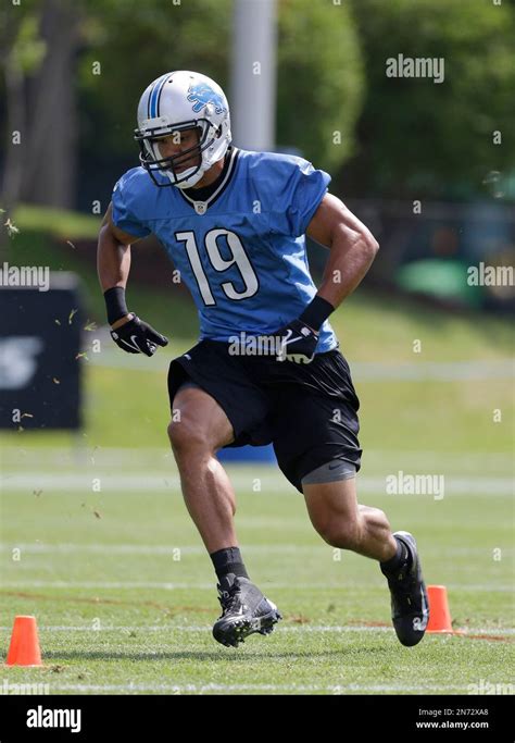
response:
<svg viewBox="0 0 515 743"><path fill-rule="evenodd" d="M194 147L173 157L162 157L159 137L193 127L199 128ZM227 98L219 85L205 75L188 70L167 72L151 83L139 100L135 139L141 150L141 165L158 186L190 188L224 157L230 145ZM177 160L184 163L185 156L191 153L200 156L199 164L177 173ZM158 181L155 171L166 175L171 183Z"/></svg>

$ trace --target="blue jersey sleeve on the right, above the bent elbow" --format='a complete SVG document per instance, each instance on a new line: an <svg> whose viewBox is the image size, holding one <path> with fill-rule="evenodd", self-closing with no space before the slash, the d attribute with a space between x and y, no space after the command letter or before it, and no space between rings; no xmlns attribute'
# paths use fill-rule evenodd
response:
<svg viewBox="0 0 515 743"><path fill-rule="evenodd" d="M315 170L311 162L296 158L284 163L272 205L271 231L299 237L327 194L330 175ZM274 189L275 190L275 189Z"/></svg>

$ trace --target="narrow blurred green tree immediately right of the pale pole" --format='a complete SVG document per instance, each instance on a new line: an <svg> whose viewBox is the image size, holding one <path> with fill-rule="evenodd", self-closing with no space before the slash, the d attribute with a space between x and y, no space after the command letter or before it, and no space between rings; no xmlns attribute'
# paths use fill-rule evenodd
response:
<svg viewBox="0 0 515 743"><path fill-rule="evenodd" d="M346 2L278 0L277 141L335 170L354 151L364 95L355 24Z"/></svg>

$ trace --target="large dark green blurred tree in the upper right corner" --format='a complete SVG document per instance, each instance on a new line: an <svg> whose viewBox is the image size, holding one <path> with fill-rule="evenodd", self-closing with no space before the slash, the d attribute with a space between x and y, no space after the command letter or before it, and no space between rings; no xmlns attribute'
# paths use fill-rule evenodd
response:
<svg viewBox="0 0 515 743"><path fill-rule="evenodd" d="M513 3L352 0L352 8L368 86L360 152L346 169L353 190L470 196L488 173L515 166ZM444 82L388 77L387 60L400 53L443 58ZM502 145L493 144L497 131Z"/></svg>

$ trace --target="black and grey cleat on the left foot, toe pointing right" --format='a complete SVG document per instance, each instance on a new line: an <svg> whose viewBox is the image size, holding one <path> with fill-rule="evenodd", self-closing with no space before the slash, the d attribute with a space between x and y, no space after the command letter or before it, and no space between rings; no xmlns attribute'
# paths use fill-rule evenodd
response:
<svg viewBox="0 0 515 743"><path fill-rule="evenodd" d="M281 619L277 606L248 578L229 573L217 585L222 616L213 627L213 637L227 647L237 647L249 634L269 634Z"/></svg>

